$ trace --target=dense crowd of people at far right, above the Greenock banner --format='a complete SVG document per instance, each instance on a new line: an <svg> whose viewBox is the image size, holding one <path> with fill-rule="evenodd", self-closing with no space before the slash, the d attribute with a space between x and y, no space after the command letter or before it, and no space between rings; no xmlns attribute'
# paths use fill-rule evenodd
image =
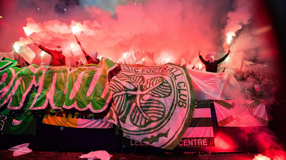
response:
<svg viewBox="0 0 286 160"><path fill-rule="evenodd" d="M235 78L241 86L241 96L246 100L262 100L265 104L272 105L275 93L278 90L278 81L269 74L256 71L238 72Z"/></svg>

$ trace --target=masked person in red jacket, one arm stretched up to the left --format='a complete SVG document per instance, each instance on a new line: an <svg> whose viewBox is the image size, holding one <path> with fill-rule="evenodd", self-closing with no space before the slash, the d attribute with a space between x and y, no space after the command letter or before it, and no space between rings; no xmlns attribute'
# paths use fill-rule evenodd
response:
<svg viewBox="0 0 286 160"><path fill-rule="evenodd" d="M62 47L57 46L56 50L47 49L42 45L39 45L35 42L35 45L38 46L42 51L51 55L50 64L51 66L65 66L66 65L66 57L63 55Z"/></svg>

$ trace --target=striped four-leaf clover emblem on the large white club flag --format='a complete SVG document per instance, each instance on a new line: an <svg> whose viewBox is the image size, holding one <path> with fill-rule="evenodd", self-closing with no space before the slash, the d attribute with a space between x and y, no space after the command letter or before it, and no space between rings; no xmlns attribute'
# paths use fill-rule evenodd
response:
<svg viewBox="0 0 286 160"><path fill-rule="evenodd" d="M116 77L110 81L110 90L121 122L125 123L130 110L131 123L140 128L165 117L166 107L160 98L170 96L172 87L163 76L145 80L143 76L118 73Z"/></svg>

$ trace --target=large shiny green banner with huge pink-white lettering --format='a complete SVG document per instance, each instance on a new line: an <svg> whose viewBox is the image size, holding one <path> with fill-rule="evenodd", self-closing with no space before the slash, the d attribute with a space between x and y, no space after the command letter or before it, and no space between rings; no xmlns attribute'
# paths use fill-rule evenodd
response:
<svg viewBox="0 0 286 160"><path fill-rule="evenodd" d="M0 114L36 110L107 114L112 98L108 78L118 71L118 65L107 58L97 65L77 68L35 64L9 67L0 72Z"/></svg>

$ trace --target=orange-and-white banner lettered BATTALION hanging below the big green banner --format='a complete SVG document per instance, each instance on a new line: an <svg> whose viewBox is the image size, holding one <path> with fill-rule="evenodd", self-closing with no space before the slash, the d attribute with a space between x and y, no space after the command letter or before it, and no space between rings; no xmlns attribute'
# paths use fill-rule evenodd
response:
<svg viewBox="0 0 286 160"><path fill-rule="evenodd" d="M73 113L48 113L42 123L74 128L112 128L113 123L103 121L102 118Z"/></svg>

